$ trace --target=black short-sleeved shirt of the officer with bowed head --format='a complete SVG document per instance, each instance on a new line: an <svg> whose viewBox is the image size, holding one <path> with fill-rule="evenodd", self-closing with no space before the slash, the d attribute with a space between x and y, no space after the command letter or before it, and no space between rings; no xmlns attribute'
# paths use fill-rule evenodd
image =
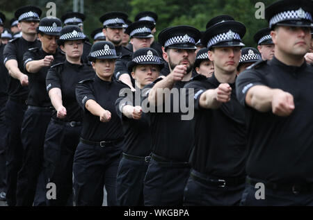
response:
<svg viewBox="0 0 313 220"><path fill-rule="evenodd" d="M45 56L54 56L52 65L59 62L64 62L65 55L61 49L56 49L56 53L50 54L42 50L42 48L32 48L24 53L24 69L25 73L29 76L29 97L27 105L47 107L51 106L51 101L46 90L46 76L49 67L42 67L37 73L31 74L26 71L26 64L34 60L42 60Z"/></svg>

